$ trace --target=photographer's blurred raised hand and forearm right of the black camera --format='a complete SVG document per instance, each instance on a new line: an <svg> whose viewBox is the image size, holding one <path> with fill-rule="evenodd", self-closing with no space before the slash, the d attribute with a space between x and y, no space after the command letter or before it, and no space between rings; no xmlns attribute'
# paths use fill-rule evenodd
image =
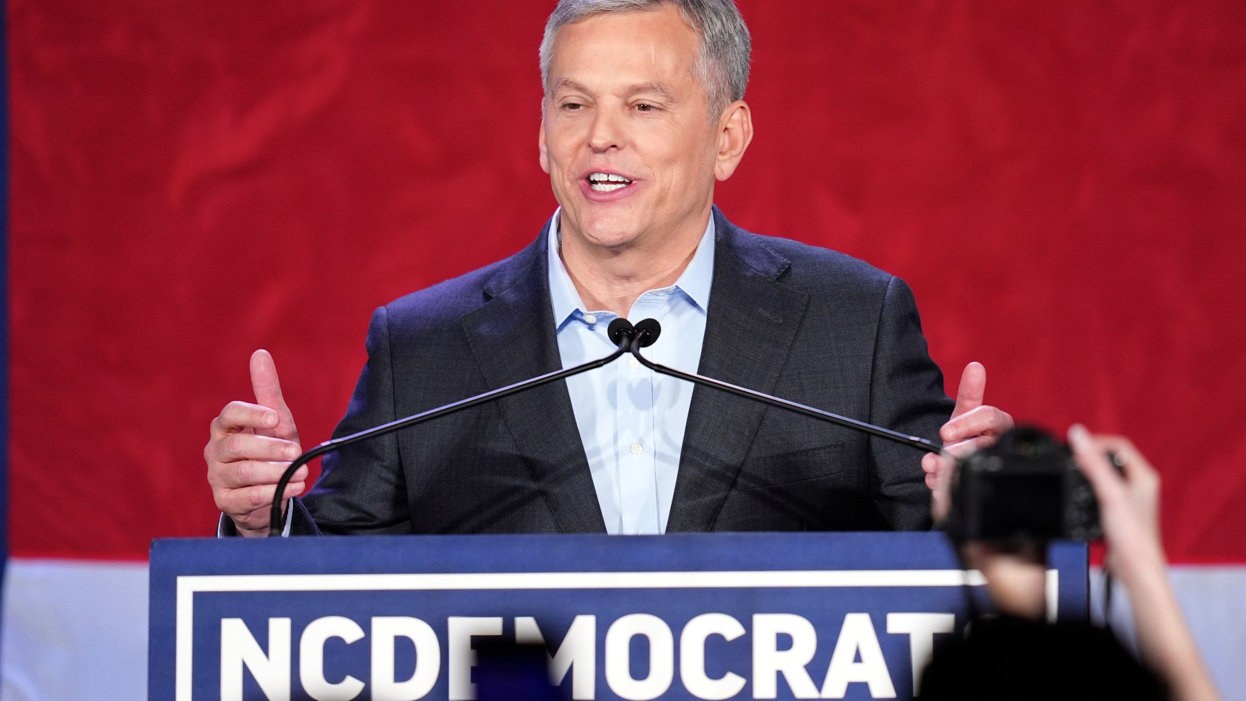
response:
<svg viewBox="0 0 1246 701"><path fill-rule="evenodd" d="M1174 699L1219 699L1168 580L1159 531L1159 475L1125 438L1090 435L1075 424L1069 429L1069 445L1099 500L1108 568L1129 591L1143 659L1168 681ZM1124 476L1108 462L1108 453L1124 459Z"/></svg>

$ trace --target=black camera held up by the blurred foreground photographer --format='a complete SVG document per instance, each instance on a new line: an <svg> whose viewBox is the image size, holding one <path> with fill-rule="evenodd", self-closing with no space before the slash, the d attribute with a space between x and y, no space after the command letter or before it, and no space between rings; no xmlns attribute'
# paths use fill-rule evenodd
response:
<svg viewBox="0 0 1246 701"><path fill-rule="evenodd" d="M1069 448L1028 427L1008 430L991 448L957 462L944 528L956 541L1019 544L1101 535L1094 489Z"/></svg>

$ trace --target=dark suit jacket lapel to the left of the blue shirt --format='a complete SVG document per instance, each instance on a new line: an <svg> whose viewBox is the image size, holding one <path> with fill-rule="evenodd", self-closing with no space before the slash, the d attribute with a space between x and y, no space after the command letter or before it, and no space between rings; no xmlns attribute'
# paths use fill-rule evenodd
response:
<svg viewBox="0 0 1246 701"><path fill-rule="evenodd" d="M490 389L562 367L549 302L548 232L547 222L537 241L486 283L490 299L461 318ZM604 533L567 383L554 382L500 399L497 407L558 526L564 533Z"/></svg>

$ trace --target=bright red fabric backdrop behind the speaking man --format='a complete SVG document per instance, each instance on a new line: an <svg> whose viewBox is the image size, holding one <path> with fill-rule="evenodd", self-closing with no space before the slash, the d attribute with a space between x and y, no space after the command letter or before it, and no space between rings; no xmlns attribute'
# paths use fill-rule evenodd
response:
<svg viewBox="0 0 1246 701"><path fill-rule="evenodd" d="M736 223L908 279L954 389L1136 439L1174 560L1246 561L1246 5L775 2ZM207 535L277 358L328 437L369 312L532 239L549 0L7 0L15 555Z"/></svg>

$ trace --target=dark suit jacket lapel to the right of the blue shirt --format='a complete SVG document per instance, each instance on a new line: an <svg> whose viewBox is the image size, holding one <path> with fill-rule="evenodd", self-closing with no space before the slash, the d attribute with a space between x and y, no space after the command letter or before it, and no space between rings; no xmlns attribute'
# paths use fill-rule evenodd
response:
<svg viewBox="0 0 1246 701"><path fill-rule="evenodd" d="M699 373L770 393L809 296L778 282L786 258L714 207L716 248ZM667 531L710 530L765 414L764 404L697 387Z"/></svg>

